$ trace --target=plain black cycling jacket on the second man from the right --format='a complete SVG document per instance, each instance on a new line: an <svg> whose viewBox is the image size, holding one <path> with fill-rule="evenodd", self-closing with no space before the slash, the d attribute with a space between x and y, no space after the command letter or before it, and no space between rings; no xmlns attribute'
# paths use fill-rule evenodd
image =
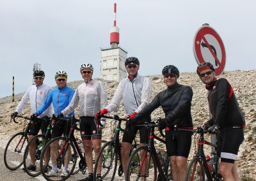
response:
<svg viewBox="0 0 256 181"><path fill-rule="evenodd" d="M177 124L178 127L192 127L191 100L193 91L191 87L176 83L172 87L159 92L156 97L145 106L136 117L134 122L141 117L152 113L156 108L162 106L165 119L169 127Z"/></svg>

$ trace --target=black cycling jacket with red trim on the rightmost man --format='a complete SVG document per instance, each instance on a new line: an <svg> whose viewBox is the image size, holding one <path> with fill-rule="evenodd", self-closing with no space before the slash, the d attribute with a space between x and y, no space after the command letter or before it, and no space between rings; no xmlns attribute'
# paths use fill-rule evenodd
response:
<svg viewBox="0 0 256 181"><path fill-rule="evenodd" d="M220 129L244 127L244 116L230 83L225 78L220 78L206 88L209 90L208 101L212 123L220 126Z"/></svg>

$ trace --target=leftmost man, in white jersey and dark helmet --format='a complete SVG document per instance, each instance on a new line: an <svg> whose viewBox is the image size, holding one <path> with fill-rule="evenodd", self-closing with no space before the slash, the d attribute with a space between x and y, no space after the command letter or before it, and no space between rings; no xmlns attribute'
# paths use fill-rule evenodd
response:
<svg viewBox="0 0 256 181"><path fill-rule="evenodd" d="M44 78L45 73L42 70L36 70L33 73L33 78L35 81L35 85L31 85L28 90L25 92L24 96L22 96L22 99L17 106L15 112L11 114L12 118L15 118L16 115L20 114L24 107L27 105L28 101L30 102L31 106L31 112L36 112L38 108L44 103L45 99L47 98L49 92L51 92L52 88L48 85L45 85ZM52 107L49 107L47 110L45 110L44 113L40 116L42 117L51 117L52 113ZM29 127L28 132L28 141L32 140L36 134L38 134L39 130L41 128L42 133L46 131L47 123L45 122L39 122L36 121L36 124ZM35 171L36 165L35 165L35 147L36 145L32 145L29 147L29 154L31 156L31 164L28 166L28 170ZM33 154L34 153L34 154ZM24 170L24 168L23 168Z"/></svg>

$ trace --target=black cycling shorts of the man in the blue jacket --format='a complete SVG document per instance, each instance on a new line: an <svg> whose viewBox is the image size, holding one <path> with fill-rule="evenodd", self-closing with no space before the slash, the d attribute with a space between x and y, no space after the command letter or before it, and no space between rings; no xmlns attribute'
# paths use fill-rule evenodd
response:
<svg viewBox="0 0 256 181"><path fill-rule="evenodd" d="M63 119L63 118L61 118ZM52 127L52 139L64 134L68 136L70 131L70 120L60 120L57 124Z"/></svg>

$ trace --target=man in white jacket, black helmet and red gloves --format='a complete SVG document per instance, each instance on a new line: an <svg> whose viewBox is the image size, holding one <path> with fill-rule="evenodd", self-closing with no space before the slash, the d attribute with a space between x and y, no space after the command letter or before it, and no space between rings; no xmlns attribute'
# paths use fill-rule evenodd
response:
<svg viewBox="0 0 256 181"><path fill-rule="evenodd" d="M138 74L140 61L136 57L129 57L125 60L125 68L129 74L127 78L121 80L111 103L100 111L100 115L113 112L120 105L123 99L125 112L132 119L142 108L148 105L151 94L150 80ZM97 117L97 114L95 115ZM150 114L140 119L141 122L150 122ZM139 122L138 122L139 123ZM134 140L137 131L140 129L140 143L146 143L148 131L145 127L125 127L125 132L122 139L122 167L126 174L127 163L129 161L129 152L131 150L132 141Z"/></svg>

